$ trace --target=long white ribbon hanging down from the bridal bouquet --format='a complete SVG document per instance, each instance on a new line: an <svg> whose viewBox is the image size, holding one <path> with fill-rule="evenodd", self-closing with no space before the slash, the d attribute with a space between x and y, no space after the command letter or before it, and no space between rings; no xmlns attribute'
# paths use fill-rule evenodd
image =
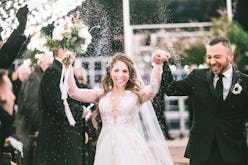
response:
<svg viewBox="0 0 248 165"><path fill-rule="evenodd" d="M68 122L71 126L75 126L76 121L71 113L69 104L67 102L67 98L68 98L68 76L69 76L69 72L68 69L63 65L62 68L62 73L61 73L61 78L60 78L60 84L59 84L59 88L61 91L61 99L63 100L63 104L65 106L65 114L66 117L68 119Z"/></svg>

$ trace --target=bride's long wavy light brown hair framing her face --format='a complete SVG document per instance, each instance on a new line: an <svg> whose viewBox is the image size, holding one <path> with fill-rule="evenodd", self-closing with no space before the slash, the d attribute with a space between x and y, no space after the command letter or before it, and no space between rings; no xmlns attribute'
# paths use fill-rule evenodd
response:
<svg viewBox="0 0 248 165"><path fill-rule="evenodd" d="M141 83L137 79L137 72L135 70L134 63L126 54L118 52L118 53L114 54L114 56L112 57L112 59L109 61L109 63L106 66L106 73L105 73L105 75L102 79L102 82L101 82L104 92L102 95L99 96L97 103L99 102L99 100L102 97L104 97L113 88L113 81L112 81L112 78L110 76L110 72L113 68L113 65L117 61L121 61L121 62L125 63L128 67L129 80L126 84L125 89L130 90L133 93L135 93L138 96L139 101L141 101L141 97L138 93L140 90L140 84ZM99 108L97 106L96 110L93 112L93 117L92 117L92 123L96 129L98 129L98 124L96 121L96 118L98 115L99 115Z"/></svg>

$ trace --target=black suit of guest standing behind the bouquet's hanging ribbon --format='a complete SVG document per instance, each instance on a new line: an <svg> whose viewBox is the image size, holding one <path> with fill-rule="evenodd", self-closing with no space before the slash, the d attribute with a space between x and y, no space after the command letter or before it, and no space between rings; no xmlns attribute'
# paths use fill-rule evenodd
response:
<svg viewBox="0 0 248 165"><path fill-rule="evenodd" d="M59 88L62 64L54 60L40 85L37 165L82 165L84 130L80 105L68 101L76 125L70 126Z"/></svg>

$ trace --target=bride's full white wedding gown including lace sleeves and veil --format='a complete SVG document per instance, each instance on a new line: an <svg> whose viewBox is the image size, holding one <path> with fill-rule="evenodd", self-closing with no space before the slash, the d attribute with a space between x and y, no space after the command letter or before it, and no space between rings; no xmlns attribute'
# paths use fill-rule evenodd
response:
<svg viewBox="0 0 248 165"><path fill-rule="evenodd" d="M115 98L112 100L111 91L100 98L98 107L102 128L94 165L173 165L150 102L159 89L161 74L162 66L153 66L150 84L139 91L142 103L130 90L125 90L118 102ZM95 102L103 94L102 90L77 89L73 74L70 76L72 98Z"/></svg>

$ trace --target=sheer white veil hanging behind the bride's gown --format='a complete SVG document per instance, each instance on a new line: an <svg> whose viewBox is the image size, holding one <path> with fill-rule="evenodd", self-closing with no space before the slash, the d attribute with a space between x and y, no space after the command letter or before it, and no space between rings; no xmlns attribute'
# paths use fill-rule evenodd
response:
<svg viewBox="0 0 248 165"><path fill-rule="evenodd" d="M136 67L138 80L143 83ZM173 165L173 160L167 142L162 133L151 101L143 103L137 116L136 128L144 136L151 152L156 158L156 165Z"/></svg>

